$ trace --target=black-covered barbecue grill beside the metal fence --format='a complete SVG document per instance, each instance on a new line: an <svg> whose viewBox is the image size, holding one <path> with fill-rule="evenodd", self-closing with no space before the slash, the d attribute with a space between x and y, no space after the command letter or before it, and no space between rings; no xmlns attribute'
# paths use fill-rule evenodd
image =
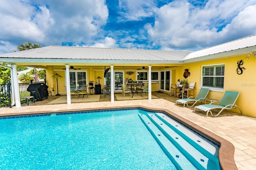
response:
<svg viewBox="0 0 256 170"><path fill-rule="evenodd" d="M34 96L37 100L42 100L43 98L48 98L48 86L44 83L33 83L30 84L27 88L27 91L30 92L30 96Z"/></svg>

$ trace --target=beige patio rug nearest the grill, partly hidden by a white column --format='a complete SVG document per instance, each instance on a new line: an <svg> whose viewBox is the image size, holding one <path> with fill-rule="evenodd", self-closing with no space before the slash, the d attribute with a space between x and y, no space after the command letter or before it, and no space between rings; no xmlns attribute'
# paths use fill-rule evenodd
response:
<svg viewBox="0 0 256 170"><path fill-rule="evenodd" d="M88 95L84 96L84 99L82 99L82 96L80 98L71 98L71 103L81 103L81 102L99 102L100 101L100 95ZM66 96L61 96L58 99L53 100L52 102L49 102L48 104L65 104L67 103Z"/></svg>

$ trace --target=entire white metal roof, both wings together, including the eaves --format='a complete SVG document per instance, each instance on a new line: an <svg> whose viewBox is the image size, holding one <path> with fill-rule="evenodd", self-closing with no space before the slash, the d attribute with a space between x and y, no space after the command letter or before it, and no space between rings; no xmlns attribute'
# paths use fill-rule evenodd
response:
<svg viewBox="0 0 256 170"><path fill-rule="evenodd" d="M246 50L245 50L246 49ZM218 57L237 56L256 52L256 35L244 37L199 51L167 51L146 49L111 49L92 47L47 46L0 55L0 61L65 63L72 59L76 63L185 63L204 61ZM4 61L3 61L4 60ZM75 61L74 61L75 60Z"/></svg>

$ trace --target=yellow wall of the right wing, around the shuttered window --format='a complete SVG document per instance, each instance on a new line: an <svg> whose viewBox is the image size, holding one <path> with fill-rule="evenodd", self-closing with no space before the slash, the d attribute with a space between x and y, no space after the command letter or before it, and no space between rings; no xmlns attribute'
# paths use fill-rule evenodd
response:
<svg viewBox="0 0 256 170"><path fill-rule="evenodd" d="M245 59L245 57L246 56L240 56L214 61L184 64L177 69L178 78L183 80L184 70L188 68L191 73L187 78L188 82L196 82L195 94L198 94L201 87L202 66L225 64L224 91L210 91L208 98L221 100L226 90L240 92L236 105L242 109L244 115L256 117L256 104L254 104L256 101L256 74L254 74L256 58L251 57L250 59ZM236 69L238 65L237 62L240 60L244 62L241 67L246 68L246 70L243 70L243 73L238 75ZM238 109L232 109L232 111L240 113Z"/></svg>

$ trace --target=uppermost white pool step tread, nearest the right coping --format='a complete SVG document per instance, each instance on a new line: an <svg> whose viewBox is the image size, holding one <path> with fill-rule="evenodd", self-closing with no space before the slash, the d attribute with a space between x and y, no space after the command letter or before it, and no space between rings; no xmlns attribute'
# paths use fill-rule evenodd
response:
<svg viewBox="0 0 256 170"><path fill-rule="evenodd" d="M186 127L180 125L178 122L172 120L170 117L168 117L164 113L155 113L155 115L159 119L163 120L164 123L167 122L170 126L173 125L175 130L177 129L179 132L184 132L186 134L186 136L188 136L189 139L191 139L194 142L194 144L196 144L200 147L200 149L202 148L202 149L206 150L206 152L209 152L210 154L215 156L213 158L218 158L219 148L217 146L214 146L211 143L205 141L205 139L196 135L194 132L190 131Z"/></svg>

